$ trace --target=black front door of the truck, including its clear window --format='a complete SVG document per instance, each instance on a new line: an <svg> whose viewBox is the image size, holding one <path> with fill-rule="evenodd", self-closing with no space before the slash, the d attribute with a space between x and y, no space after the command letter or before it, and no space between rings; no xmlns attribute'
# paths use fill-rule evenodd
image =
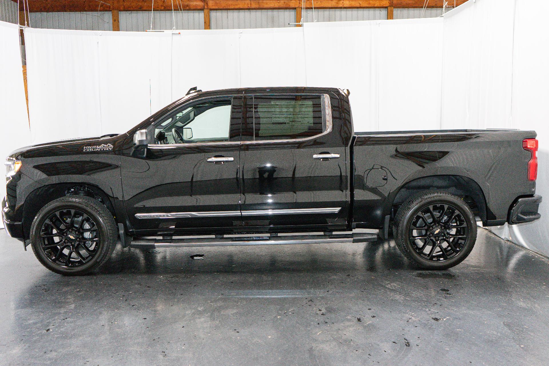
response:
<svg viewBox="0 0 549 366"><path fill-rule="evenodd" d="M145 157L122 157L128 219L142 233L241 226L242 97L193 100L154 121Z"/></svg>

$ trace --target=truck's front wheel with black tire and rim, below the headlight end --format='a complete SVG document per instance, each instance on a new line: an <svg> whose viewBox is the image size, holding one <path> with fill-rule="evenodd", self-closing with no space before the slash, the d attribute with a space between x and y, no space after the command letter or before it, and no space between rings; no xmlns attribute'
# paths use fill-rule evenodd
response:
<svg viewBox="0 0 549 366"><path fill-rule="evenodd" d="M113 253L113 215L88 196L65 196L38 211L30 230L32 251L50 271L81 275L102 266Z"/></svg>

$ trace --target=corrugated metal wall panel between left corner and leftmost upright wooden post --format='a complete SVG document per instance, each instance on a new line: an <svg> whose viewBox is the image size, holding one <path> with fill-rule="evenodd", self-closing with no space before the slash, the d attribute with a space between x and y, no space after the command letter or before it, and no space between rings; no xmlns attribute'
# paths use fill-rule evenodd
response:
<svg viewBox="0 0 549 366"><path fill-rule="evenodd" d="M111 12L30 13L30 26L47 29L111 31L113 14Z"/></svg>

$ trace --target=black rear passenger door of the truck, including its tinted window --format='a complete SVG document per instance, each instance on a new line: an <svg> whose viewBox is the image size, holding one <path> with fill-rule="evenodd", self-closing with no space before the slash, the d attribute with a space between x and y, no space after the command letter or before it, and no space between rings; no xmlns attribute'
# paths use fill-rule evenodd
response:
<svg viewBox="0 0 549 366"><path fill-rule="evenodd" d="M328 94L254 94L244 102L240 172L244 226L346 224L345 146Z"/></svg>

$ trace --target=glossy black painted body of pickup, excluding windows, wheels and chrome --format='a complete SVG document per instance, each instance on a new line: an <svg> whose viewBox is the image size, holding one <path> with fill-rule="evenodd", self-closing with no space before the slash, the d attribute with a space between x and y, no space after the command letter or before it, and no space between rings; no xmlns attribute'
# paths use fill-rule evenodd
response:
<svg viewBox="0 0 549 366"><path fill-rule="evenodd" d="M284 93L329 94L332 132L299 143L240 142L238 117L233 115L231 136L235 139L228 144L141 150L133 147L133 133L138 129L149 128L150 132L155 121L193 100L228 95L245 100L248 95ZM123 223L131 235L380 228L414 182L444 176L447 182L461 182L477 192L472 196L481 206L481 219L495 225L507 221L509 207L518 197L535 193L535 182L526 179L530 153L522 148L523 139L534 137L533 131L504 130L354 134L349 99L334 88L201 92L170 104L124 134L14 151L11 156L22 160L23 167L7 183L4 217L15 237L28 238L33 215L44 204L65 195L75 185L86 184L102 197L116 221ZM85 146L99 144L111 144L113 149L83 151ZM339 153L340 158L311 159L313 154L323 152ZM223 165L205 162L216 155L232 156L234 161ZM310 207L341 207L341 211L326 216L173 220L134 216L158 211Z"/></svg>

